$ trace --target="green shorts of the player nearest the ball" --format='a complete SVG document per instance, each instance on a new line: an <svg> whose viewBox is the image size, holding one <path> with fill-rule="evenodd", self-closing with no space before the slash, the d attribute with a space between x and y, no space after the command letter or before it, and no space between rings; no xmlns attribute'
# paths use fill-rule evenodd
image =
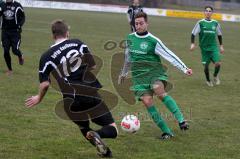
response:
<svg viewBox="0 0 240 159"><path fill-rule="evenodd" d="M162 81L165 91L168 92L172 89L173 85L167 81L168 77L165 75L159 77L146 77L144 79L133 78L133 86L130 88L134 91L135 99L141 101L144 94L154 95L153 84L156 81Z"/></svg>

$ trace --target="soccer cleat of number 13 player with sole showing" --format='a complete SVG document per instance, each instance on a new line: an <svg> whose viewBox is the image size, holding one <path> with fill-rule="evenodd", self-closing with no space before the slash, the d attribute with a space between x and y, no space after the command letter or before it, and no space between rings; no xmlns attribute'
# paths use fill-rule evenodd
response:
<svg viewBox="0 0 240 159"><path fill-rule="evenodd" d="M95 131L89 131L87 136L90 142L96 146L99 156L108 158L112 157L111 150L105 145L98 133Z"/></svg>

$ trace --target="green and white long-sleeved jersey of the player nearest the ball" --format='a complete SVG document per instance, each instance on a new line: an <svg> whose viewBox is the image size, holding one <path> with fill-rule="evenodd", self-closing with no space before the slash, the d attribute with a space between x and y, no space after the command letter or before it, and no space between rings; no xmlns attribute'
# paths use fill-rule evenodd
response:
<svg viewBox="0 0 240 159"><path fill-rule="evenodd" d="M126 76L131 66L132 75L137 76L146 72L162 71L161 58L169 61L184 73L187 72L187 66L171 51L161 40L151 33L140 36L136 32L127 36L127 48L125 50L125 62L122 70L122 76Z"/></svg>

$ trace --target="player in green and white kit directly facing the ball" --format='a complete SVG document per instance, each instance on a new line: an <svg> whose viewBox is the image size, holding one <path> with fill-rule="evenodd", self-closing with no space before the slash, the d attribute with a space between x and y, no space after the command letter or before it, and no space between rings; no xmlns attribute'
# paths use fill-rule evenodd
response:
<svg viewBox="0 0 240 159"><path fill-rule="evenodd" d="M135 27L136 32L129 34L127 37L125 62L119 75L119 84L124 81L130 68L133 82L131 89L134 91L136 98L145 105L156 125L163 131L161 138L169 139L173 137L173 133L157 111L153 102L153 95L156 95L173 113L180 129L187 130L189 125L175 100L167 94L165 88L168 85L168 76L166 69L161 64L161 57L187 75L191 75L192 70L186 67L157 37L147 31L148 19L146 13L136 14Z"/></svg>

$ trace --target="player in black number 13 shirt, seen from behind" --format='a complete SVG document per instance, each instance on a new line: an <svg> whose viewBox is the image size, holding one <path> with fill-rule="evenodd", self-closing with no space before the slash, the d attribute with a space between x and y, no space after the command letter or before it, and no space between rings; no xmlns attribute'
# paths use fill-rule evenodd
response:
<svg viewBox="0 0 240 159"><path fill-rule="evenodd" d="M65 108L69 118L79 126L83 136L96 146L101 157L112 157L111 150L104 144L101 138L116 138L116 124L111 112L106 104L101 101L101 97L97 93L97 90L102 87L100 82L96 78L92 81L85 80L87 72L96 68L96 64L87 45L78 39L68 38L68 28L69 26L62 20L53 22L52 34L55 44L40 59L39 93L28 98L25 105L30 108L42 101L51 82L50 74L55 72L57 75L54 78L58 82L64 80L62 84L61 82L58 84L63 94L63 99L65 101L70 100L69 106ZM74 88L74 84L81 86L81 93ZM66 90L67 86L73 89L72 93ZM83 92L91 92L91 95L85 95ZM64 107L66 107L65 104L64 102ZM85 119L71 116L71 112L75 112L75 114L78 112L83 113L95 108L98 108L96 114L99 111L103 111L103 113L98 115L84 114ZM89 127L89 120L102 126L102 128L93 131Z"/></svg>

